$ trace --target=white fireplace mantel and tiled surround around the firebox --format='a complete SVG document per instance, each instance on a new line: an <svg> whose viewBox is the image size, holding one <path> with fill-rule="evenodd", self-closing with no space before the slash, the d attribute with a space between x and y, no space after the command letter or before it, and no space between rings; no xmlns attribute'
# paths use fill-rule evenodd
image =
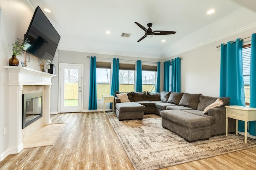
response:
<svg viewBox="0 0 256 170"><path fill-rule="evenodd" d="M49 125L50 119L50 88L52 78L48 74L20 66L5 66L9 72L9 154L23 149L23 140L43 125ZM43 91L43 117L22 129L22 94Z"/></svg>

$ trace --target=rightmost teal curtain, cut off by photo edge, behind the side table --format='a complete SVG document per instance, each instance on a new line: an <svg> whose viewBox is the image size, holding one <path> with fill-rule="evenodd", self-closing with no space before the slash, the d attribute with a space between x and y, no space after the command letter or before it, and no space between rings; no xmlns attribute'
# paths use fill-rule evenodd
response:
<svg viewBox="0 0 256 170"><path fill-rule="evenodd" d="M256 108L256 33L252 34L250 61L250 107ZM256 121L249 121L248 132L256 136Z"/></svg>

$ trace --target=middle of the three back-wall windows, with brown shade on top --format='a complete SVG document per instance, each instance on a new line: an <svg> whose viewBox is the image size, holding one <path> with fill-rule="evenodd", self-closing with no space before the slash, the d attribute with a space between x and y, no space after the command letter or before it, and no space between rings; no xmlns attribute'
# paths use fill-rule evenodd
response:
<svg viewBox="0 0 256 170"><path fill-rule="evenodd" d="M119 91L134 91L135 64L119 63Z"/></svg>

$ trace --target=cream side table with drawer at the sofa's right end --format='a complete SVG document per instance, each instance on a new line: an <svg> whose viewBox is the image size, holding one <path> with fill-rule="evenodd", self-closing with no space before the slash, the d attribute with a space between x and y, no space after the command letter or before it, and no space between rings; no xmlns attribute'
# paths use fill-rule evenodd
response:
<svg viewBox="0 0 256 170"><path fill-rule="evenodd" d="M238 134L238 120L244 121L244 143L247 143L247 122L256 120L256 108L244 106L226 107L226 136L228 136L228 117L236 119L236 135Z"/></svg>

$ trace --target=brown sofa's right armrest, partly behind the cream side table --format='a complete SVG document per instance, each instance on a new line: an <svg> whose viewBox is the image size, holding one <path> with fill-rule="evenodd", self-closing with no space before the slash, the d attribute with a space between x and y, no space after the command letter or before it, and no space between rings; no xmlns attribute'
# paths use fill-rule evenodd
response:
<svg viewBox="0 0 256 170"><path fill-rule="evenodd" d="M208 110L208 116L214 117L216 125L216 134L226 133L226 107L211 108ZM236 121L228 119L228 132L236 131Z"/></svg>

